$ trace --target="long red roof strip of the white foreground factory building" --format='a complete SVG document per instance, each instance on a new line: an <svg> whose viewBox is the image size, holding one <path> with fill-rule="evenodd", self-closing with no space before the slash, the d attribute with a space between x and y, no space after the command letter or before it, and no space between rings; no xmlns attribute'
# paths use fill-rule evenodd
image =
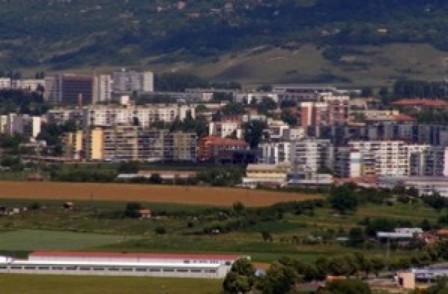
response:
<svg viewBox="0 0 448 294"><path fill-rule="evenodd" d="M235 260L241 255L197 254L197 253L123 253L123 252L79 252L79 251L34 251L30 256L45 257L85 257L85 258L166 258L166 259L214 259Z"/></svg>

